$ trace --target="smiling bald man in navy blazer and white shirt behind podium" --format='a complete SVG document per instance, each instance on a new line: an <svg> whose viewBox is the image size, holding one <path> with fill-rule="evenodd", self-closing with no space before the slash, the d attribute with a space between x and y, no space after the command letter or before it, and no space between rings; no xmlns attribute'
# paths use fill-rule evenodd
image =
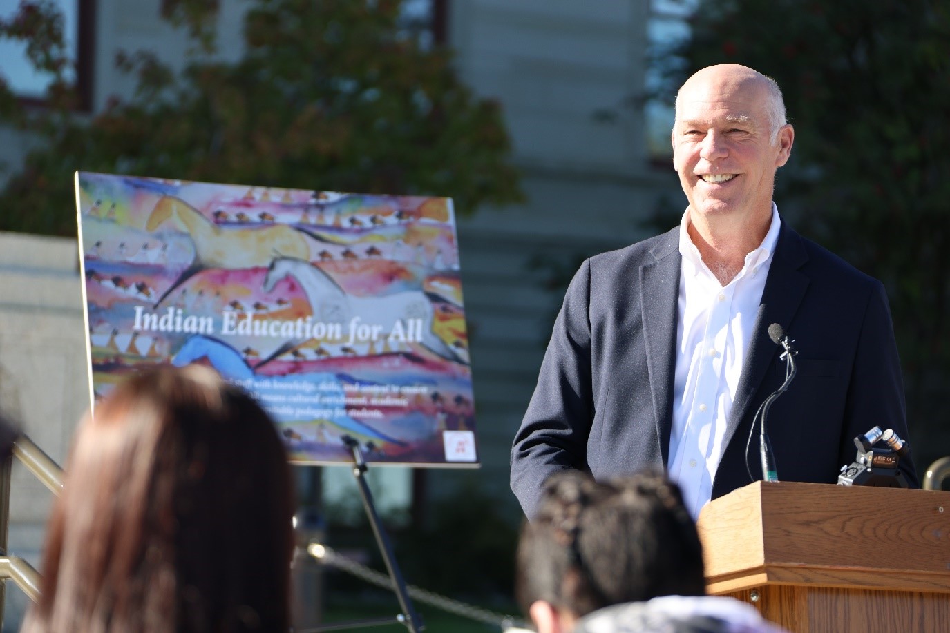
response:
<svg viewBox="0 0 950 633"><path fill-rule="evenodd" d="M883 285L772 201L794 139L778 85L751 68L713 65L680 88L673 162L689 206L678 228L588 259L571 282L511 453L529 517L561 470L665 468L693 517L759 478L755 411L785 380L771 324L799 352L769 412L780 479L835 483L874 425L907 437ZM901 468L917 485L909 457Z"/></svg>

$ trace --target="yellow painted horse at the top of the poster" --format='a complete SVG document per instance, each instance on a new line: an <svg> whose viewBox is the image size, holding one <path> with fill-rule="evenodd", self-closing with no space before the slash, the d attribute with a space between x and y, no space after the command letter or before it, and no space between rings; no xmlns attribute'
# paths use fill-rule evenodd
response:
<svg viewBox="0 0 950 633"><path fill-rule="evenodd" d="M155 303L156 307L172 290L201 270L266 268L277 256L311 259L310 244L305 233L286 224L222 228L181 198L164 195L156 202L145 221L145 229L155 231L167 221L174 221L189 233L195 244L195 261L162 293ZM313 237L322 242L332 242L318 235Z"/></svg>

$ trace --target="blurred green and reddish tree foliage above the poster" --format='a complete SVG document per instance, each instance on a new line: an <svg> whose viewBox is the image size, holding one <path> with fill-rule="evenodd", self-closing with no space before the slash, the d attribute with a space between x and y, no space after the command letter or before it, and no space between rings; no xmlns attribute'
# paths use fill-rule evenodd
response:
<svg viewBox="0 0 950 633"><path fill-rule="evenodd" d="M62 20L23 2L0 35L24 40L55 80L47 107L0 86L0 121L38 149L0 191L0 229L76 233L75 170L362 193L449 195L460 213L521 199L495 102L475 98L445 47L400 22L398 0L256 0L236 63L216 61L218 2L177 0L165 17L192 38L180 73L121 55L134 94L74 116Z"/></svg>

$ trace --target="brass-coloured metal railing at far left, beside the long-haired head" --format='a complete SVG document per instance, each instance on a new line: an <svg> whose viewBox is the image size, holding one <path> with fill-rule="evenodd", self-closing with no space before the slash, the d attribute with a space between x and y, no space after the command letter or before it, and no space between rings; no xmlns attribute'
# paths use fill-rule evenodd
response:
<svg viewBox="0 0 950 633"><path fill-rule="evenodd" d="M12 455L0 463L0 622L3 622L7 583L10 579L34 603L40 597L40 573L19 556L10 556L7 538L10 529L10 472L13 457L57 496L63 491L63 469L33 440L21 435L13 442Z"/></svg>

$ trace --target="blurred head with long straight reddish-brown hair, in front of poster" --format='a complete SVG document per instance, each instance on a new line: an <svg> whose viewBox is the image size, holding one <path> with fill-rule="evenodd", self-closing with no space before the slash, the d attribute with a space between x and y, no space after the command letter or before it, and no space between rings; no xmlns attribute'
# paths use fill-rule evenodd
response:
<svg viewBox="0 0 950 633"><path fill-rule="evenodd" d="M25 630L287 630L293 513L255 400L198 365L136 374L74 438Z"/></svg>

